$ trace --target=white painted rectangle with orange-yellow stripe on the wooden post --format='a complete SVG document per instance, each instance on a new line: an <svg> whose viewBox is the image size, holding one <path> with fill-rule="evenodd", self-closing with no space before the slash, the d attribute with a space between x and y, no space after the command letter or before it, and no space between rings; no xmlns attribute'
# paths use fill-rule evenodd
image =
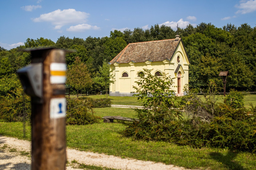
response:
<svg viewBox="0 0 256 170"><path fill-rule="evenodd" d="M66 83L67 65L65 63L53 62L50 64L50 83L65 84Z"/></svg>

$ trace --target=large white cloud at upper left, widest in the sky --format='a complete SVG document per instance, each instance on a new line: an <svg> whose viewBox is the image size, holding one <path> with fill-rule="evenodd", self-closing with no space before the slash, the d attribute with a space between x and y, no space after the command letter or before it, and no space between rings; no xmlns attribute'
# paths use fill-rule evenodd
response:
<svg viewBox="0 0 256 170"><path fill-rule="evenodd" d="M56 10L47 14L41 14L40 17L33 19L34 22L49 22L55 26L55 29L61 29L64 25L83 24L87 21L90 14L76 11L75 9Z"/></svg>

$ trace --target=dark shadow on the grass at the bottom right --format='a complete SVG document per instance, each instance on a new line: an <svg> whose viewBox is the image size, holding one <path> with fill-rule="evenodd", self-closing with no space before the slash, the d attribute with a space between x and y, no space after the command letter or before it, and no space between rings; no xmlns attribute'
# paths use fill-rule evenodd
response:
<svg viewBox="0 0 256 170"><path fill-rule="evenodd" d="M229 151L226 155L223 155L220 152L211 152L210 156L212 159L220 162L230 170L246 170L240 164L235 162L233 159L236 157L237 153Z"/></svg>

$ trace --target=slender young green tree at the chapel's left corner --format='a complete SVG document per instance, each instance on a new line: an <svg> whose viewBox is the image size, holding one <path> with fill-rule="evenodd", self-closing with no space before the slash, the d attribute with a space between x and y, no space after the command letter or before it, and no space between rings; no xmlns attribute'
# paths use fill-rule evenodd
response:
<svg viewBox="0 0 256 170"><path fill-rule="evenodd" d="M114 83L113 80L110 80L110 78L114 77L112 71L113 70L110 69L110 65L104 62L102 67L100 66L97 76L94 78L94 83L99 85L100 88L103 88L106 91L107 98L109 85L111 83Z"/></svg>

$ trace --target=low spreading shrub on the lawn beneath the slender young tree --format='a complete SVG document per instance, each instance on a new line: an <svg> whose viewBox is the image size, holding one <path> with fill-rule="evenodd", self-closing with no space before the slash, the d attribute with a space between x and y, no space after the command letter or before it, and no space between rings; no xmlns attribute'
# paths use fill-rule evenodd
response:
<svg viewBox="0 0 256 170"><path fill-rule="evenodd" d="M109 98L93 99L89 97L84 97L83 100L86 100L86 103L89 103L92 108L111 107L111 99Z"/></svg>

